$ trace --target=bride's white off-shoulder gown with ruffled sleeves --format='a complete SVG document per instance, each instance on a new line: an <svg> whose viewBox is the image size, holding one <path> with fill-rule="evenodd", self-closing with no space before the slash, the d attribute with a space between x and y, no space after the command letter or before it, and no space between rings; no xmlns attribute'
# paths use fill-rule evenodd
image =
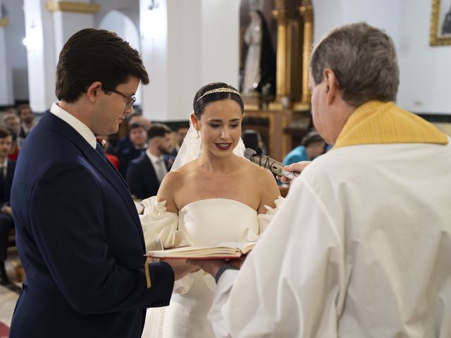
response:
<svg viewBox="0 0 451 338"><path fill-rule="evenodd" d="M257 241L282 201L280 197L276 208L265 206L266 213L257 213L239 201L204 199L187 204L177 214L166 212L166 201L157 202L153 196L143 201L140 216L146 249ZM175 282L169 306L147 309L142 337L214 337L206 315L215 288L214 278L202 270Z"/></svg>

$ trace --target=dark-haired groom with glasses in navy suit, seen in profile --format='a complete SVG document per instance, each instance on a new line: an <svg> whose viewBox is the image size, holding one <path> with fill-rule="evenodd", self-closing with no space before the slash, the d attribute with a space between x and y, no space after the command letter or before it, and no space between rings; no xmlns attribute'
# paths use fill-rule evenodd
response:
<svg viewBox="0 0 451 338"><path fill-rule="evenodd" d="M130 191L94 136L117 132L140 81L149 82L140 55L114 33L81 30L63 46L59 101L27 136L13 180L27 279L11 338L138 338L145 308L167 306L174 280L193 269L183 260L145 266Z"/></svg>

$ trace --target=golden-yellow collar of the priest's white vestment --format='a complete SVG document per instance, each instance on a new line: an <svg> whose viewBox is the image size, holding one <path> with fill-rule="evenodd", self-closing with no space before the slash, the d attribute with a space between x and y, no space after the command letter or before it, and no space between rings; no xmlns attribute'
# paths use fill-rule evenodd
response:
<svg viewBox="0 0 451 338"><path fill-rule="evenodd" d="M369 101L347 119L333 149L357 144L447 144L448 137L418 115L394 102Z"/></svg>

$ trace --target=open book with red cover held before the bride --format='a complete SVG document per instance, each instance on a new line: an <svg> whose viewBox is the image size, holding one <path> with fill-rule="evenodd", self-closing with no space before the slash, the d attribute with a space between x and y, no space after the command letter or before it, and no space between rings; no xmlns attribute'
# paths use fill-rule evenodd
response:
<svg viewBox="0 0 451 338"><path fill-rule="evenodd" d="M215 246L183 246L181 248L147 251L153 258L225 259L240 258L254 248L256 242L224 242Z"/></svg>

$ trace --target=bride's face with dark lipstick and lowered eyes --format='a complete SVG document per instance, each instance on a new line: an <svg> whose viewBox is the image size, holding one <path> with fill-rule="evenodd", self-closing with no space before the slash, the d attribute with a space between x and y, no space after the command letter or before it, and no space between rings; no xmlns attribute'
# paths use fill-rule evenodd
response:
<svg viewBox="0 0 451 338"><path fill-rule="evenodd" d="M232 153L241 136L242 111L236 101L225 99L211 102L197 121L204 151L216 156Z"/></svg>

